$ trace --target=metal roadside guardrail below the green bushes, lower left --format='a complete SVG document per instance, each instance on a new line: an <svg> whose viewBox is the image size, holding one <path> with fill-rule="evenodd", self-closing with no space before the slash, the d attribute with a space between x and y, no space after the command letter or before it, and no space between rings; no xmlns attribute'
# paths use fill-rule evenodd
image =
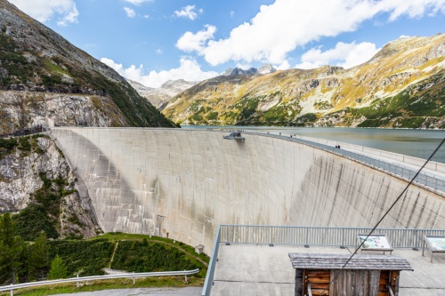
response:
<svg viewBox="0 0 445 296"><path fill-rule="evenodd" d="M46 284L64 284L64 283L78 283L86 282L86 281L98 281L104 279L113 279L113 278L132 278L133 283L135 283L135 279L138 277L150 277L150 276L187 276L197 274L199 272L199 268L193 270L184 270L184 271L162 271L162 272L142 272L142 273L134 273L134 274L119 274L119 275L106 275L106 276L84 276L84 277L72 277L72 278L64 278L53 281L40 281L40 282L31 282L24 284L10 284L6 286L0 286L0 292L11 291L11 296L13 295L13 291L17 289L36 287L40 285Z"/></svg>

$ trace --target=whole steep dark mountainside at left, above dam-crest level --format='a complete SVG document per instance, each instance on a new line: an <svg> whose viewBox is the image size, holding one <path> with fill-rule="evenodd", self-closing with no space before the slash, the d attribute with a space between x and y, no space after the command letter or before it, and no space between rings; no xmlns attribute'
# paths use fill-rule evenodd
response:
<svg viewBox="0 0 445 296"><path fill-rule="evenodd" d="M35 124L34 114L60 125L174 126L116 71L5 0L0 0L0 90L9 128ZM59 110L61 104L69 108L45 113L50 101Z"/></svg>

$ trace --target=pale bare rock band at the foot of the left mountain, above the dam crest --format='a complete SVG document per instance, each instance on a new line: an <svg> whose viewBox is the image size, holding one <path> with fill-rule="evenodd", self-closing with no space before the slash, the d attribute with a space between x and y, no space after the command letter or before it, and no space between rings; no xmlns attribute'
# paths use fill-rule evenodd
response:
<svg viewBox="0 0 445 296"><path fill-rule="evenodd" d="M87 94L0 91L0 131L49 126L125 126L125 116L109 97Z"/></svg>

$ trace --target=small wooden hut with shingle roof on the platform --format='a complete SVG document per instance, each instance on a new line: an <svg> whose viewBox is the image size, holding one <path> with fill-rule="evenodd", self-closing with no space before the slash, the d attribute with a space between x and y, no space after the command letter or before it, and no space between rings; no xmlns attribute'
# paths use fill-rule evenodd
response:
<svg viewBox="0 0 445 296"><path fill-rule="evenodd" d="M396 256L289 253L295 296L397 296L401 270L414 270ZM340 271L342 268L344 269Z"/></svg>

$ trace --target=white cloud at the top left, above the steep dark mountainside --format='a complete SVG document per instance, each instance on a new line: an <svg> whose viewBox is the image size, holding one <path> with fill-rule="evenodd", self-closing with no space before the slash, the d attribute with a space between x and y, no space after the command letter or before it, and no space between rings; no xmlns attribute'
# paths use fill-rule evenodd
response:
<svg viewBox="0 0 445 296"><path fill-rule="evenodd" d="M9 2L41 22L52 20L56 15L59 26L77 23L79 15L74 0L9 0Z"/></svg>

